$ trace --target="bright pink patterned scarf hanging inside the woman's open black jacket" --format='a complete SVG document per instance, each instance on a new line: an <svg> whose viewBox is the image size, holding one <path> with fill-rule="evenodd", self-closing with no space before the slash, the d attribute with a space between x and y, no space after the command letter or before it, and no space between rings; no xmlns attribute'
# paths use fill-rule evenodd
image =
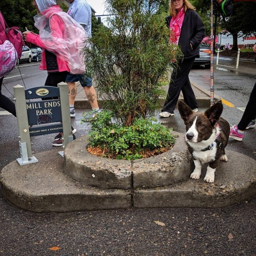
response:
<svg viewBox="0 0 256 256"><path fill-rule="evenodd" d="M179 38L180 38L180 32L181 32L181 26L184 20L184 7L180 10L180 12L176 15L176 17L172 17L170 20L170 43L178 45Z"/></svg>

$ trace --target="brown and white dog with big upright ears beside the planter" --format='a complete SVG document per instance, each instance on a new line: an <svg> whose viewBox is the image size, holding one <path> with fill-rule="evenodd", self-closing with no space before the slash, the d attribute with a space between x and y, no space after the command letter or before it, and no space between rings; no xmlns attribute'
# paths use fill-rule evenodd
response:
<svg viewBox="0 0 256 256"><path fill-rule="evenodd" d="M179 101L178 110L186 125L185 140L195 163L190 178L199 179L202 164L209 163L204 181L214 182L215 170L220 160L228 161L225 147L230 127L228 122L220 117L223 105L219 101L204 113L194 113L187 104Z"/></svg>

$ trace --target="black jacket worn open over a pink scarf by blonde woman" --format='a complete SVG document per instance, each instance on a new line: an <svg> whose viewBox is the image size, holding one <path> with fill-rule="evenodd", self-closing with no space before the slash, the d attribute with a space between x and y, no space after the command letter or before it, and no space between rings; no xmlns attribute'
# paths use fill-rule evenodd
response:
<svg viewBox="0 0 256 256"><path fill-rule="evenodd" d="M165 18L166 25L169 28L172 16ZM184 54L184 59L199 57L199 45L205 37L204 24L196 11L187 9L181 27L179 46ZM193 47L191 49L190 43Z"/></svg>

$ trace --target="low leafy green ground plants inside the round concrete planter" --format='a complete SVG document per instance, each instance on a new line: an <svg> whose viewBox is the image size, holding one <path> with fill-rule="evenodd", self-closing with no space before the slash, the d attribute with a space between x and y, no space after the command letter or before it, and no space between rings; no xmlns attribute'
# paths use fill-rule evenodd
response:
<svg viewBox="0 0 256 256"><path fill-rule="evenodd" d="M148 150L160 152L161 148L170 148L175 143L175 137L170 133L172 129L157 123L154 118L137 118L130 126L112 120L113 113L106 110L91 119L89 141L92 147L99 146L104 150L106 157L140 159Z"/></svg>

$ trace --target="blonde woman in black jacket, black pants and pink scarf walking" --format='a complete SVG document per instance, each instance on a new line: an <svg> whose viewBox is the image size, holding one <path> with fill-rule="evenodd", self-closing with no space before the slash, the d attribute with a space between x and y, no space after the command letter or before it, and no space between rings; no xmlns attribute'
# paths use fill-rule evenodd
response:
<svg viewBox="0 0 256 256"><path fill-rule="evenodd" d="M166 23L170 28L170 43L180 46L184 57L178 60L177 69L172 73L160 117L174 115L181 91L185 103L194 112L198 111L198 103L188 74L195 58L199 57L199 45L205 36L204 24L195 8L187 0L170 0L169 12L170 16L166 17Z"/></svg>

